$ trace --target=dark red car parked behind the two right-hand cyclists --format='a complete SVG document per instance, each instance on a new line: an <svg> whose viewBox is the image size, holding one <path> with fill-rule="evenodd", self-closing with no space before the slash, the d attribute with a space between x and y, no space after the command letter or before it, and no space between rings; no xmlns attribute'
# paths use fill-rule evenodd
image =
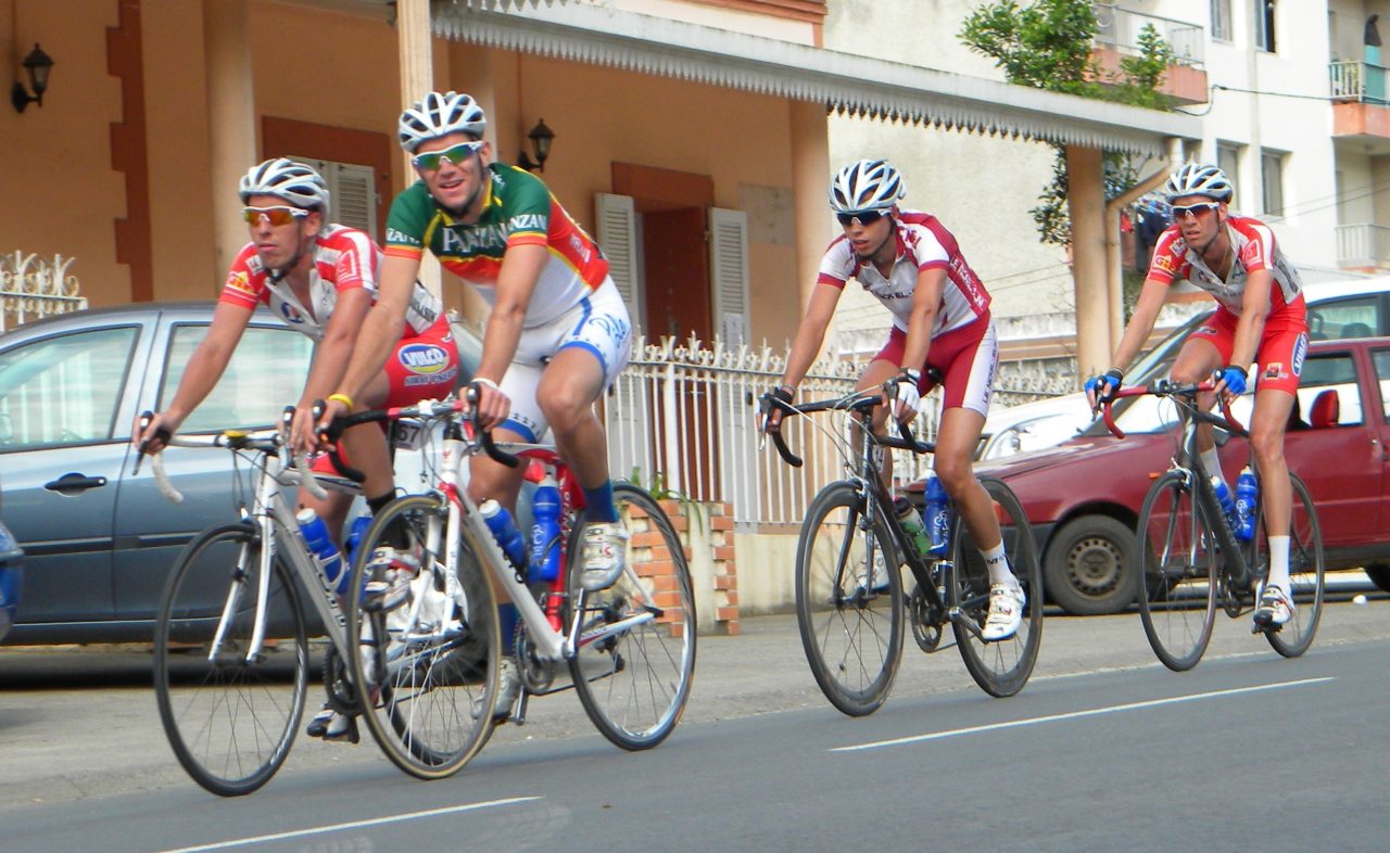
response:
<svg viewBox="0 0 1390 853"><path fill-rule="evenodd" d="M1318 507L1327 568L1364 567L1390 590L1387 395L1390 338L1315 340L1284 454ZM1251 400L1247 393L1233 407L1241 422L1248 422ZM1116 613L1134 600L1134 524L1177 440L1169 401L1134 397L1115 413L1125 439L1095 422L1056 447L976 468L1002 478L1019 496L1042 554L1048 597L1074 614ZM1227 482L1236 482L1248 453L1245 440L1222 446Z"/></svg>

